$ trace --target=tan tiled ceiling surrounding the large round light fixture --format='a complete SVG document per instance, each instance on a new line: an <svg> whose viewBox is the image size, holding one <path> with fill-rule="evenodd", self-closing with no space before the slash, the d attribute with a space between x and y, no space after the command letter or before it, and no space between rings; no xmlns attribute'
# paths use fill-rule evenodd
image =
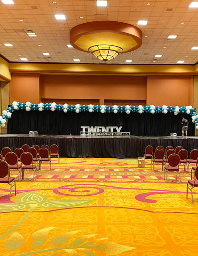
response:
<svg viewBox="0 0 198 256"><path fill-rule="evenodd" d="M191 50L198 46L198 8L188 8L192 0L108 0L107 7L97 7L96 0L56 0L57 4L52 0L13 1L15 4L0 1L0 54L10 62L27 58L28 62L74 63L73 59L80 59L80 63L103 64L90 53L67 47L71 28L101 19L126 22L143 32L139 49L108 64L125 64L126 60L132 64L198 62L198 50ZM58 21L54 14L65 14L66 20ZM137 25L138 20L148 23ZM37 37L29 37L24 29L33 30ZM177 38L167 40L169 35ZM50 53L51 61L42 53ZM154 58L156 54L162 57Z"/></svg>

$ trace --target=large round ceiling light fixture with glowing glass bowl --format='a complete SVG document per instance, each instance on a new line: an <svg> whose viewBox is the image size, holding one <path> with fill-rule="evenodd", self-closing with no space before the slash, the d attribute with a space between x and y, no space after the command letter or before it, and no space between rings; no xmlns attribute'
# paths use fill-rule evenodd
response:
<svg viewBox="0 0 198 256"><path fill-rule="evenodd" d="M142 45L142 31L117 21L87 22L71 29L70 44L101 61L109 61L121 53L138 49Z"/></svg>

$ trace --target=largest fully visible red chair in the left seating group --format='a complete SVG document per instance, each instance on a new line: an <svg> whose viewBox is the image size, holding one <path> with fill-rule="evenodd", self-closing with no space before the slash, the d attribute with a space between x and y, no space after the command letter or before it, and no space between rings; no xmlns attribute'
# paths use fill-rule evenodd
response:
<svg viewBox="0 0 198 256"><path fill-rule="evenodd" d="M29 152L24 152L21 155L21 163L23 164L21 167L22 177L24 178L24 171L25 170L33 170L33 181L35 176L35 171L37 175L37 166L33 164L33 156Z"/></svg>

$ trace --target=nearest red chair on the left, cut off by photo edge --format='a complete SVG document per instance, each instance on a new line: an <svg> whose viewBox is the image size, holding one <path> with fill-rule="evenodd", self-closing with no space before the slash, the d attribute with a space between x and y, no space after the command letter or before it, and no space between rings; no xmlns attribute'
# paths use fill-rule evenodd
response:
<svg viewBox="0 0 198 256"><path fill-rule="evenodd" d="M9 165L4 160L0 160L0 183L8 183L10 185L9 199L11 197L12 187L16 195L16 181L14 177L10 177Z"/></svg>

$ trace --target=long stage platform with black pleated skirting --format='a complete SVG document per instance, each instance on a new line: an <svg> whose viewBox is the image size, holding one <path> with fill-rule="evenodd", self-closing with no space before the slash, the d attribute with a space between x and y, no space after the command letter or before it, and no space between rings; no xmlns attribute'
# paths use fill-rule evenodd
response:
<svg viewBox="0 0 198 256"><path fill-rule="evenodd" d="M61 157L80 158L137 158L143 156L145 147L182 146L188 152L198 149L198 137L169 136L72 136L72 135L13 135L0 134L0 151L3 147L14 150L23 144L59 146Z"/></svg>

